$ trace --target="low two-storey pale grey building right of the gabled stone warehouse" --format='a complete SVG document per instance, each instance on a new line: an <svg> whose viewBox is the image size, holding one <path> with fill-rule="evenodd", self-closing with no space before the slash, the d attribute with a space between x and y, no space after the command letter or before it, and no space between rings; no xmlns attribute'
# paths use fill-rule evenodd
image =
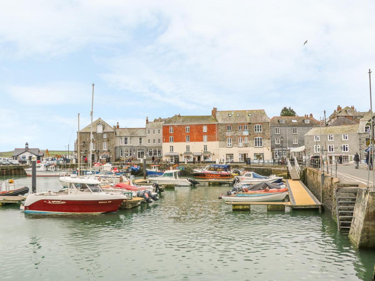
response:
<svg viewBox="0 0 375 281"><path fill-rule="evenodd" d="M142 159L146 151L146 129L145 128L120 128L114 126L116 131L115 150L116 159L126 158Z"/></svg>

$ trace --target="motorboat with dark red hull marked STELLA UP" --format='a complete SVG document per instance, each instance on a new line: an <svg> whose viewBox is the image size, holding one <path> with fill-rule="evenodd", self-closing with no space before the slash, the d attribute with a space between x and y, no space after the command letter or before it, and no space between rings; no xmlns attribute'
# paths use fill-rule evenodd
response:
<svg viewBox="0 0 375 281"><path fill-rule="evenodd" d="M76 175L69 178L68 188L28 195L21 209L37 213L98 214L116 212L127 199L123 194L103 191L95 179L81 179Z"/></svg>

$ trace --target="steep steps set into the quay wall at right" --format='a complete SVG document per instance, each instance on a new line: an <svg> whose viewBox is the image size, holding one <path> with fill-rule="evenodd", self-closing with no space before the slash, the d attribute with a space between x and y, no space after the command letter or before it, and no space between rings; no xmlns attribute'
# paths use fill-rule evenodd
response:
<svg viewBox="0 0 375 281"><path fill-rule="evenodd" d="M356 205L358 187L342 187L335 190L337 206L337 227L341 232L349 232Z"/></svg>

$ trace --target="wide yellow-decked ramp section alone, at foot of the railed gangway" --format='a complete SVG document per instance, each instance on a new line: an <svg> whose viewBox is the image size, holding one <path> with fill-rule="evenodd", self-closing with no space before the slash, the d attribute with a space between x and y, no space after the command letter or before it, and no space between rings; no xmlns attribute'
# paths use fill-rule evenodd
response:
<svg viewBox="0 0 375 281"><path fill-rule="evenodd" d="M322 204L302 181L287 179L286 182L292 209L321 208Z"/></svg>

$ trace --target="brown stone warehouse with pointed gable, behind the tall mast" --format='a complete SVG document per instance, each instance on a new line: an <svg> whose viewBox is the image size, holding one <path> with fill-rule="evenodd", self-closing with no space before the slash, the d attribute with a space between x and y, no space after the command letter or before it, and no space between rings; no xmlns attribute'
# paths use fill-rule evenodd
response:
<svg viewBox="0 0 375 281"><path fill-rule="evenodd" d="M115 131L101 118L80 130L81 163L90 159L90 127L92 126L92 161L112 162L115 159Z"/></svg>

